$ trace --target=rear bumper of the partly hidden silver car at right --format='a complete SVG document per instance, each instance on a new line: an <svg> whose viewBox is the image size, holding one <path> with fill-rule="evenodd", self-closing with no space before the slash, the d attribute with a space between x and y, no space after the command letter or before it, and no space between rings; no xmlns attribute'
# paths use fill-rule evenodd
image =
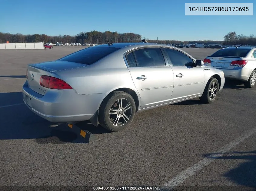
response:
<svg viewBox="0 0 256 191"><path fill-rule="evenodd" d="M222 68L218 68L218 69L224 72L225 78L242 80L242 81L248 81L252 72L251 69L238 68L238 67L235 67L234 69L222 69Z"/></svg>

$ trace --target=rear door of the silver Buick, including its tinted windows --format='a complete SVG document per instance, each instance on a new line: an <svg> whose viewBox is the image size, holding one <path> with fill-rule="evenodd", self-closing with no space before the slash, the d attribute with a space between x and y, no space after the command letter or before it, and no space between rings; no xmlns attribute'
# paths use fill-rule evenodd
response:
<svg viewBox="0 0 256 191"><path fill-rule="evenodd" d="M129 71L141 97L140 109L169 103L173 72L159 47L137 49L126 55Z"/></svg>

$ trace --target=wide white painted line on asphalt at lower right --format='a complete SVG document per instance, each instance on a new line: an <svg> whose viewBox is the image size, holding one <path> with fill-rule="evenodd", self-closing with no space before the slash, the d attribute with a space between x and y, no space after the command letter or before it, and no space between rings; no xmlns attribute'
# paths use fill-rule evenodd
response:
<svg viewBox="0 0 256 191"><path fill-rule="evenodd" d="M179 184L183 183L185 180L187 180L189 177L193 176L195 173L197 173L199 170L203 169L205 166L216 160L217 158L224 155L225 152L228 152L230 149L238 145L239 143L243 142L245 139L250 137L256 132L256 128L251 129L246 134L238 137L234 141L228 143L221 149L219 149L216 154L211 154L208 156L208 158L204 158L198 163L194 164L193 166L189 167L188 169L184 170L180 174L178 174L176 177L169 180L167 183L165 183L162 186L162 191L164 190L171 190L174 189L175 186L178 186Z"/></svg>

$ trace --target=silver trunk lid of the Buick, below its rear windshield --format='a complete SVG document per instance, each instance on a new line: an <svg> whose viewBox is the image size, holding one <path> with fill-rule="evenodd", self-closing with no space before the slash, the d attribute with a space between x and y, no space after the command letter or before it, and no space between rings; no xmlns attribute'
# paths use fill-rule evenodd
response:
<svg viewBox="0 0 256 191"><path fill-rule="evenodd" d="M75 62L66 62L66 61L52 61L52 62L43 62L38 64L29 64L28 69L28 87L38 94L45 95L48 91L48 88L42 87L40 85L40 78L42 75L51 76L52 72L67 70L72 68L79 68L88 66L86 64L80 64Z"/></svg>

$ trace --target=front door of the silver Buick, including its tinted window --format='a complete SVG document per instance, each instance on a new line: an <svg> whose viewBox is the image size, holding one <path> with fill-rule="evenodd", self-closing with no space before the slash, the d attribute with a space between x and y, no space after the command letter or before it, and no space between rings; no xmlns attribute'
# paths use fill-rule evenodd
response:
<svg viewBox="0 0 256 191"><path fill-rule="evenodd" d="M165 48L174 74L174 88L171 101L183 100L201 95L203 92L204 70L194 66L194 61L179 50Z"/></svg>

